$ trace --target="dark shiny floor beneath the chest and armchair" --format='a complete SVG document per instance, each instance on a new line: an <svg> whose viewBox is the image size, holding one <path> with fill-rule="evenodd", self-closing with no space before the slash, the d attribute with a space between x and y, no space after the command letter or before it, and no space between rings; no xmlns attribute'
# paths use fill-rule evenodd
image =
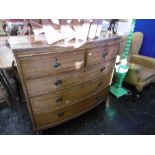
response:
<svg viewBox="0 0 155 155"><path fill-rule="evenodd" d="M132 95L116 99L110 95L86 114L65 124L43 131L45 135L139 135L155 134L155 84ZM35 134L25 103L0 106L1 135Z"/></svg>

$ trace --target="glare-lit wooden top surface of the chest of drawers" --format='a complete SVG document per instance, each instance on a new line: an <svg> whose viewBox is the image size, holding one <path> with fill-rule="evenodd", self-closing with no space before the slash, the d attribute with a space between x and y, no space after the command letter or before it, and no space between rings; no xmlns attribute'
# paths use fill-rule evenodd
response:
<svg viewBox="0 0 155 155"><path fill-rule="evenodd" d="M108 42L116 42L120 40L120 36L112 36L109 38L100 38L95 40L89 40L86 42L78 42L72 41L66 43L64 41L58 41L52 45L49 45L46 41L44 35L39 35L37 38L34 35L27 35L27 36L10 36L8 38L8 42L14 52L23 51L23 50L35 50L35 49L45 49L48 48L54 51L65 51L65 50L72 50L72 49L80 49L80 48L87 48L98 46L101 44L106 44Z"/></svg>

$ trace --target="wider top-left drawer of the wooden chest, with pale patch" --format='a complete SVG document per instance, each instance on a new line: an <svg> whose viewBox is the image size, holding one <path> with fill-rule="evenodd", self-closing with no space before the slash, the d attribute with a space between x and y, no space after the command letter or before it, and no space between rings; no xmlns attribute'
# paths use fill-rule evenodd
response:
<svg viewBox="0 0 155 155"><path fill-rule="evenodd" d="M19 57L23 76L40 77L68 70L78 70L84 66L85 51L58 52Z"/></svg>

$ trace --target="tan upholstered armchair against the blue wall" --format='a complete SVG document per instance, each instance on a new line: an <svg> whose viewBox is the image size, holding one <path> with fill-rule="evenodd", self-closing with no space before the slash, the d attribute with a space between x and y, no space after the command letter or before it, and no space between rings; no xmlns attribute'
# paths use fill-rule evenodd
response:
<svg viewBox="0 0 155 155"><path fill-rule="evenodd" d="M127 37L124 37L126 41ZM143 42L143 33L135 32L129 53L129 71L125 82L136 87L138 91L155 80L155 59L139 55Z"/></svg>

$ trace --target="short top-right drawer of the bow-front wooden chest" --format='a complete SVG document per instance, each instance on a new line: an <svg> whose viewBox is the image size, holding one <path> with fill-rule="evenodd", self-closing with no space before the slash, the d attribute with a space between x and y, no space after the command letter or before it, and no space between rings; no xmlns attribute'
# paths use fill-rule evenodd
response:
<svg viewBox="0 0 155 155"><path fill-rule="evenodd" d="M116 57L118 44L87 49L87 66Z"/></svg>

